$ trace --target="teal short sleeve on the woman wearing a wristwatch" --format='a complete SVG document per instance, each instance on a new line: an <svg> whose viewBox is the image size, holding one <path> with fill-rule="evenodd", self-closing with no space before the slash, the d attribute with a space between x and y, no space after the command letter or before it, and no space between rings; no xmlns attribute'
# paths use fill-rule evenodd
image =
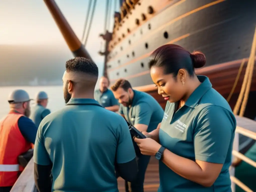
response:
<svg viewBox="0 0 256 192"><path fill-rule="evenodd" d="M224 164L232 147L236 120L220 106L205 108L194 130L195 158L199 161Z"/></svg>

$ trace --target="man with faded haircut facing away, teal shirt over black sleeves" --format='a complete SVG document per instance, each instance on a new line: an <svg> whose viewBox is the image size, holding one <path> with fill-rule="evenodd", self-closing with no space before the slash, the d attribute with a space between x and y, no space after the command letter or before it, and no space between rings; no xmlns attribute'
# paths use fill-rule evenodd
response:
<svg viewBox="0 0 256 192"><path fill-rule="evenodd" d="M76 57L66 62L66 106L47 115L37 132L34 175L39 192L116 192L115 167L124 179L136 178L127 123L93 99L97 79L98 67L91 60Z"/></svg>

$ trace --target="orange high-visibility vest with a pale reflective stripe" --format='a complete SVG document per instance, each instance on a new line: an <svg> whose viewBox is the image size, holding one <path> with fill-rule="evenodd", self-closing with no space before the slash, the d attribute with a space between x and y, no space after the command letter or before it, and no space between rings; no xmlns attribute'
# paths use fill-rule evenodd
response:
<svg viewBox="0 0 256 192"><path fill-rule="evenodd" d="M13 186L18 172L24 168L18 164L18 156L31 148L18 127L23 114L10 112L0 122L0 187Z"/></svg>

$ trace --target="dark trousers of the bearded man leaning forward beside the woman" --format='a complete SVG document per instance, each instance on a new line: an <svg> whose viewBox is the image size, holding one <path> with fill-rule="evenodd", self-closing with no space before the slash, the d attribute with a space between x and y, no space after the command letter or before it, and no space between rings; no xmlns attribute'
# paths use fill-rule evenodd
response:
<svg viewBox="0 0 256 192"><path fill-rule="evenodd" d="M147 169L147 165L149 163L151 156L148 155L140 155L138 157L137 163L138 163L138 175L137 179L130 183L130 190L132 192L143 192L143 183L145 179L145 173ZM125 191L129 192L129 186L128 182L125 181Z"/></svg>

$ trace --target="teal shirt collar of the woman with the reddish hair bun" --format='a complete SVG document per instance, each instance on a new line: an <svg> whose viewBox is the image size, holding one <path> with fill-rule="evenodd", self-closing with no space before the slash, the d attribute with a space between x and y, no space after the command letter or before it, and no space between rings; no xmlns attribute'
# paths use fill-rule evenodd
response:
<svg viewBox="0 0 256 192"><path fill-rule="evenodd" d="M206 76L197 76L201 84L195 89L195 91L189 96L185 105L194 108L198 105L198 102L203 97L203 95L212 88L212 84L208 77Z"/></svg>

